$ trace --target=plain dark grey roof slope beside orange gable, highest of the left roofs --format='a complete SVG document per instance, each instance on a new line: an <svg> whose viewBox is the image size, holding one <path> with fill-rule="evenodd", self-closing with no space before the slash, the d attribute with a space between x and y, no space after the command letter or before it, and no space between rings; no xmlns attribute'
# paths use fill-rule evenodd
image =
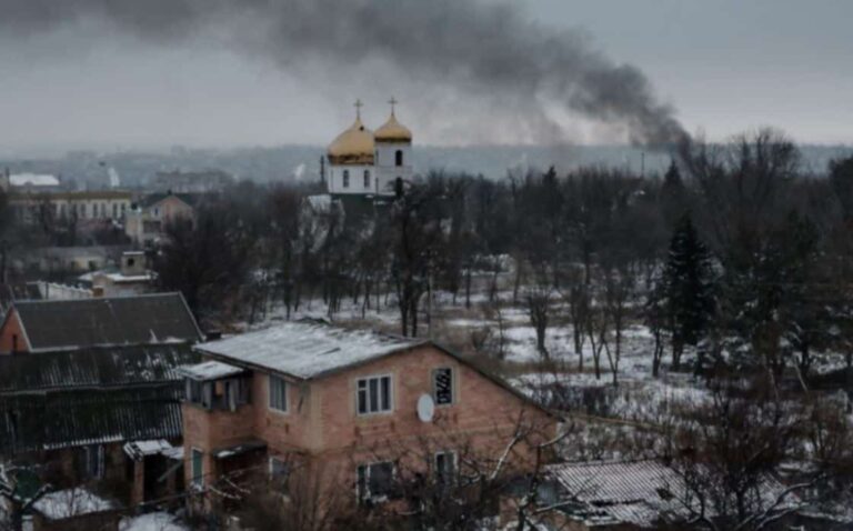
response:
<svg viewBox="0 0 853 531"><path fill-rule="evenodd" d="M80 300L17 301L33 352L203 339L180 293Z"/></svg>

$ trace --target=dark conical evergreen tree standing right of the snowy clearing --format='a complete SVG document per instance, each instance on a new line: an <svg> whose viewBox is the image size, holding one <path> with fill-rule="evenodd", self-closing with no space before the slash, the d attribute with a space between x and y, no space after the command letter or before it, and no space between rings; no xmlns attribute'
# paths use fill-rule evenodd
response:
<svg viewBox="0 0 853 531"><path fill-rule="evenodd" d="M679 370L684 345L695 345L714 310L713 268L690 214L678 223L663 271L666 321L672 338L672 368Z"/></svg>

